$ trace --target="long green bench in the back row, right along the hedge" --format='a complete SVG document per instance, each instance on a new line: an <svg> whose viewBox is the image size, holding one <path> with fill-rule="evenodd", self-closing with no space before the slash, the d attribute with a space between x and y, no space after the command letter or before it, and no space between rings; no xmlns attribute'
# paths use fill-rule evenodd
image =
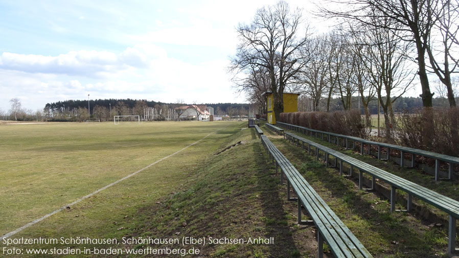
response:
<svg viewBox="0 0 459 258"><path fill-rule="evenodd" d="M355 143L360 143L360 154L363 154L363 147L364 145L368 145L368 154L370 154L371 146L377 146L378 147L378 154L377 157L378 159L381 159L381 148L386 148L387 150L387 159L389 159L389 153L391 150L398 150L400 151L400 166L403 167L404 164L404 154L405 153L410 153L411 154L411 167L415 166L415 155L419 156L424 156L428 158L433 158L435 159L435 167L434 167L434 178L435 181L440 180L440 162L446 162L448 163L448 177L446 179L452 179L453 176L453 166L454 164L459 165L459 157L453 157L453 156L448 156L440 153L435 153L435 152L430 152L430 151L425 151L425 150L420 150L420 149L415 149L415 148L409 148L409 147L403 147L403 146L398 146L398 145L393 145L393 144L385 144L385 143L379 143L379 142L374 142L372 140L365 140L359 137L354 137L354 136L348 136L348 135L342 135L342 134L337 134L337 133L331 133L331 132L324 132L324 131L318 131L302 126L297 126L297 125L291 125L291 124L286 124L282 122L277 122L276 125L282 126L284 128L294 130L294 131L299 131L302 132L306 135L315 135L315 137L318 137L320 134L320 138L324 140L324 136L327 137L328 142L331 142L331 139L334 138L334 143L339 145L339 139L342 139L342 144L346 148L349 148L348 145L348 140L352 141L353 144L353 149L355 148Z"/></svg>

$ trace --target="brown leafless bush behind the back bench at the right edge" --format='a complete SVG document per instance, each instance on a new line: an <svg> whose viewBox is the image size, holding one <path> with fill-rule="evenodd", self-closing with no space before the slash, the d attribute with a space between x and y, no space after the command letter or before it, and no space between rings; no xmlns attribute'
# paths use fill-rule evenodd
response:
<svg viewBox="0 0 459 258"><path fill-rule="evenodd" d="M397 144L451 156L459 153L459 109L422 108L400 114Z"/></svg>

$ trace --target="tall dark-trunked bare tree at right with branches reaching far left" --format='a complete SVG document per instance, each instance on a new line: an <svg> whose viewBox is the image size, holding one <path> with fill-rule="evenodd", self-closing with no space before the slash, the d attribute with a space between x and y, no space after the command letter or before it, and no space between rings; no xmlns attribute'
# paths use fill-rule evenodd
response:
<svg viewBox="0 0 459 258"><path fill-rule="evenodd" d="M328 17L343 17L357 20L361 24L383 28L416 46L418 75L421 83L423 105L432 106L433 93L430 92L426 70L426 51L433 25L438 20L433 10L440 8L440 0L349 0L330 1L339 11L321 8ZM343 11L341 11L343 10ZM375 22L386 20L387 22Z"/></svg>

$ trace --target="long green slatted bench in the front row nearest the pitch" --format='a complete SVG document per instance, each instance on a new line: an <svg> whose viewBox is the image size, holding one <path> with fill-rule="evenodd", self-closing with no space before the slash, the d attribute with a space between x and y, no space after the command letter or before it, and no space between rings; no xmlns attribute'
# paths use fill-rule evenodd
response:
<svg viewBox="0 0 459 258"><path fill-rule="evenodd" d="M276 172L280 168L281 183L283 175L287 178L287 199L298 203L298 223L313 223L317 227L317 257L323 257L324 241L335 257L373 257L266 135L262 135L261 140L272 161L276 163ZM290 198L290 187L297 198ZM302 206L312 221L301 219Z"/></svg>

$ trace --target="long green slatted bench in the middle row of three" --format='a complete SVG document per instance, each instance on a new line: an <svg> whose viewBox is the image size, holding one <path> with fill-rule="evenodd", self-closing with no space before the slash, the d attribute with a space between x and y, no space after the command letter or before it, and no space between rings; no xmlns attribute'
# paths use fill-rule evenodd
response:
<svg viewBox="0 0 459 258"><path fill-rule="evenodd" d="M293 133L284 133L284 138L287 138L293 144L300 146L302 149L305 149L305 144L308 145L308 154L311 152L311 146L315 148L316 158L319 158L319 151L325 153L325 165L328 166L329 156L335 158L335 167L337 161L339 161L339 174L342 175L342 162L346 162L351 166L350 173L352 175L353 169L359 170L359 189L362 189L363 186L363 173L367 173L372 176L372 188L375 187L375 178L378 178L381 181L384 181L391 185L391 212L395 210L395 197L396 189L400 189L408 194L407 198L407 210L412 208L412 196L419 198L420 200L425 201L426 203L431 204L434 207L442 210L443 212L449 215L449 240L448 240L448 253L452 254L455 251L455 238L456 238L456 219L459 219L459 202L453 200L449 197L441 195L437 192L434 192L430 189L427 189L424 186L408 181L399 176L388 173L382 169L376 168L368 163L365 163L361 160L350 157L346 154L338 152L336 150L330 149L328 147L319 145L311 140L305 139L303 137L297 136Z"/></svg>

